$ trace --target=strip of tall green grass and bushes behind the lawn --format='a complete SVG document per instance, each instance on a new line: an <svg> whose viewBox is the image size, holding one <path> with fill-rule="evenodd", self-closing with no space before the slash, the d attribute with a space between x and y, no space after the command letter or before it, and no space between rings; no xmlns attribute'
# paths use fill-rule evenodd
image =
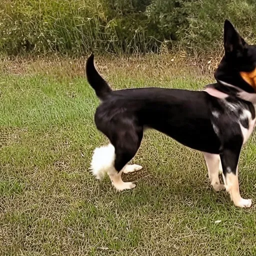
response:
<svg viewBox="0 0 256 256"><path fill-rule="evenodd" d="M250 42L254 0L1 0L1 53L216 51L225 18ZM221 45L222 47L222 45Z"/></svg>

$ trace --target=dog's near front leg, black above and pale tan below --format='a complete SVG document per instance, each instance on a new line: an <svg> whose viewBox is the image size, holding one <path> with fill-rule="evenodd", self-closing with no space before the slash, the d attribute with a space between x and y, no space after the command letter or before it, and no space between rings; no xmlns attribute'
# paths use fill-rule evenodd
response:
<svg viewBox="0 0 256 256"><path fill-rule="evenodd" d="M250 207L251 199L243 199L239 192L238 183L238 159L240 148L224 148L220 153L220 159L223 169L223 179L226 191L229 192L230 198L234 205L238 207Z"/></svg>

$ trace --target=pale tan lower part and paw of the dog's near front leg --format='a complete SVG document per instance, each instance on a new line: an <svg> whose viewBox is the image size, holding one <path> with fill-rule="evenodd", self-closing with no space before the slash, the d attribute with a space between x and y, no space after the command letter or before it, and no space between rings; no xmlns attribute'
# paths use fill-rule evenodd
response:
<svg viewBox="0 0 256 256"><path fill-rule="evenodd" d="M236 174L232 172L226 173L225 183L226 191L229 192L230 199L233 201L234 205L242 208L251 206L251 199L243 199L240 196L237 169Z"/></svg>

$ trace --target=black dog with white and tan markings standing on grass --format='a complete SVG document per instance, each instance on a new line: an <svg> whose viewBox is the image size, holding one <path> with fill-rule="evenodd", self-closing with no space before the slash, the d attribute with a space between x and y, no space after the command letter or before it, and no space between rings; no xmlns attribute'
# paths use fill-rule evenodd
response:
<svg viewBox="0 0 256 256"><path fill-rule="evenodd" d="M232 24L224 23L225 53L214 76L216 83L202 91L135 88L112 91L94 67L86 62L89 84L101 100L94 120L110 144L94 150L91 171L100 179L107 173L117 190L135 187L123 182L121 172L141 169L127 163L139 148L143 130L157 129L206 160L209 180L218 191L225 188L236 206L250 207L239 193L238 159L242 145L255 125L256 46L247 44ZM222 166L224 184L218 172Z"/></svg>

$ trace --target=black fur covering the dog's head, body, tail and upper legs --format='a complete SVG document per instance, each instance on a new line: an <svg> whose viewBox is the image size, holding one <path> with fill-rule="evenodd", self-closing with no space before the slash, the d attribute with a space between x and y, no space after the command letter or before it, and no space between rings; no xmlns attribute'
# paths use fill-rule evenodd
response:
<svg viewBox="0 0 256 256"><path fill-rule="evenodd" d="M207 87L228 94L225 99L206 91L182 89L112 91L96 71L93 55L88 58L87 79L102 100L95 113L95 124L115 147L117 171L135 155L144 128L150 127L190 148L219 154L223 173L236 172L243 143L240 125L249 126L249 119L242 117L242 112L249 110L252 119L255 118L253 105L237 96L241 89L254 92L239 71L255 68L256 49L248 45L227 20L224 23L224 47L225 55L214 74L217 82Z"/></svg>

